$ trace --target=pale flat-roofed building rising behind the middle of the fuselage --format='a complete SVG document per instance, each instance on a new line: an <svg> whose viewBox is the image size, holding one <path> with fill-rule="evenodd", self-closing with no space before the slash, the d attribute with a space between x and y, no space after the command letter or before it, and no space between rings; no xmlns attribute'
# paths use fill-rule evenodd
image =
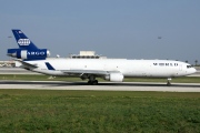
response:
<svg viewBox="0 0 200 133"><path fill-rule="evenodd" d="M101 57L96 54L96 51L80 51L79 54L70 54L71 59L106 59L107 57Z"/></svg>

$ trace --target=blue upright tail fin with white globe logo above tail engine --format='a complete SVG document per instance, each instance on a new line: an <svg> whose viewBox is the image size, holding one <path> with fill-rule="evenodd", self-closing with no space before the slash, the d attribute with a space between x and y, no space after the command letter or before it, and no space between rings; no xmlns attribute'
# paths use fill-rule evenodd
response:
<svg viewBox="0 0 200 133"><path fill-rule="evenodd" d="M38 50L34 43L29 38L27 38L21 30L14 29L12 32L20 49Z"/></svg>

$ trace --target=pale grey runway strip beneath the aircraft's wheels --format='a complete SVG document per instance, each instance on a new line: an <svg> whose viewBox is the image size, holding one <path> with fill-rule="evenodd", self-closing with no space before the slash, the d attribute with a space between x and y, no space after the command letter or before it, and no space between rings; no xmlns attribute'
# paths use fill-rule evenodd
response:
<svg viewBox="0 0 200 133"><path fill-rule="evenodd" d="M0 89L200 92L200 83L172 83L167 86L166 83L150 82L101 82L98 85L87 85L86 82L64 81L0 81Z"/></svg>

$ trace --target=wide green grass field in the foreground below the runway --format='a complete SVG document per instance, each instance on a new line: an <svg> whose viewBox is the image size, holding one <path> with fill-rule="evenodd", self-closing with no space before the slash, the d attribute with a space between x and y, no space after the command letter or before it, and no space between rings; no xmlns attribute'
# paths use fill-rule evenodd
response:
<svg viewBox="0 0 200 133"><path fill-rule="evenodd" d="M0 132L198 133L200 93L0 90Z"/></svg>

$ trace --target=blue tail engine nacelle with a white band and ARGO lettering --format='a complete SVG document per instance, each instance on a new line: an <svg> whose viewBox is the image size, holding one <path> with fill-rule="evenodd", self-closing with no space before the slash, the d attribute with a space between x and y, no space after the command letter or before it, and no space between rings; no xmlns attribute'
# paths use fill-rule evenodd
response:
<svg viewBox="0 0 200 133"><path fill-rule="evenodd" d="M24 60L41 60L50 57L50 51L48 49L38 49L38 50L8 49L7 55L17 59L24 59Z"/></svg>

